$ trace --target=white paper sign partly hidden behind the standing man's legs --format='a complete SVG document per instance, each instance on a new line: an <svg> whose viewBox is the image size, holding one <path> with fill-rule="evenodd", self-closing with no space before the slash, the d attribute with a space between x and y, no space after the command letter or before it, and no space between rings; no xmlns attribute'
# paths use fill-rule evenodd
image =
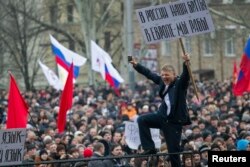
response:
<svg viewBox="0 0 250 167"><path fill-rule="evenodd" d="M160 130L150 129L155 148L161 147ZM139 128L136 122L125 122L125 141L129 148L137 150L141 144Z"/></svg>

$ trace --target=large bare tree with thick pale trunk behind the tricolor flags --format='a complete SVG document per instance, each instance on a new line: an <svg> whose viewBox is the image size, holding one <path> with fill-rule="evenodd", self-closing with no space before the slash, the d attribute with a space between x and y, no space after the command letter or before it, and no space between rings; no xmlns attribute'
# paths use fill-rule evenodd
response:
<svg viewBox="0 0 250 167"><path fill-rule="evenodd" d="M60 13L60 10L65 9L67 3L64 1L53 1L54 5L58 6L58 13ZM119 60L121 58L121 54L117 55L118 53L121 53L122 49L122 36L121 36L121 27L118 26L115 27L114 25L117 25L117 22L120 22L120 25L122 23L121 15L122 12L119 9L117 12L114 12L111 10L115 9L113 8L114 4L116 4L116 7L118 6L121 8L122 2L119 1L103 1L103 0L75 0L74 1L75 7L78 9L78 14L80 16L80 20L77 22L80 23L81 26L81 35L76 34L76 32L71 32L69 29L64 28L64 26L61 26L61 23L58 21L54 24L49 22L49 20L41 20L40 18L36 17L35 15L32 15L27 10L24 10L23 8L20 8L18 6L10 6L5 5L6 8L9 10L12 10L10 7L14 8L14 10L23 16L27 18L29 21L32 21L33 24L38 25L43 30L50 30L54 31L57 34L62 35L65 40L70 40L76 42L80 47L83 53L85 53L86 57L88 57L88 61L90 61L90 40L98 41L102 43L104 46L111 46L111 43L115 43L114 46L112 46L112 49L108 51L112 51L111 57L116 55L116 58ZM43 5L45 2L42 2ZM73 2L71 2L73 3ZM0 2L0 4L3 4L3 2ZM47 9L43 9L43 11L49 11L50 6L43 6ZM41 11L37 11L37 13L40 13L40 15L43 15ZM48 13L46 13L48 15ZM57 20L60 20L60 14L57 16ZM115 22L115 24L114 24ZM118 23L119 24L119 23ZM110 30L112 29L112 31ZM116 30L114 30L116 29ZM110 32L109 34L107 32ZM79 32L77 32L79 33ZM108 34L108 40L105 39L104 34ZM117 40L120 39L120 40ZM117 42L119 41L119 42ZM106 49L106 48L105 48ZM119 56L119 57L118 57ZM88 72L89 72L89 84L93 84L93 74L91 70L91 63L87 63L86 66L88 66Z"/></svg>

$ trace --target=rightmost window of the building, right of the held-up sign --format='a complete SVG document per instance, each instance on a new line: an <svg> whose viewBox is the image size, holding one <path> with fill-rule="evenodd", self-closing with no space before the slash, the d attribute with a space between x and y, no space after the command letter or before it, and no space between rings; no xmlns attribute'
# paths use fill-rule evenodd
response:
<svg viewBox="0 0 250 167"><path fill-rule="evenodd" d="M235 39L234 39L235 30L225 30L225 56L234 57L235 56Z"/></svg>

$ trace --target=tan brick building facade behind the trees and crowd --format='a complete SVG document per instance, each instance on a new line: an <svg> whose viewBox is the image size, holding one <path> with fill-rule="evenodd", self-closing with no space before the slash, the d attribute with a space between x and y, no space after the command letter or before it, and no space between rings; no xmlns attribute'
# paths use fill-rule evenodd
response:
<svg viewBox="0 0 250 167"><path fill-rule="evenodd" d="M63 27L64 30L75 36L77 40L69 40L58 32L51 33L64 46L78 52L84 57L88 58L86 65L81 69L78 83L88 85L89 78L87 76L90 70L90 56L87 55L86 48L81 46L78 40L84 43L84 33L80 23L81 15L77 11L76 4L72 1L44 1L47 9L45 20L50 21L51 24ZM58 5L60 2L60 5ZM128 75L127 69L129 64L126 61L126 45L124 45L126 32L126 22L124 21L125 9L124 1L118 0L110 4L111 1L96 1L96 12L91 19L95 19L95 28L97 33L93 40L104 48L112 57L114 66L123 75ZM160 43L147 45L144 42L138 20L136 18L135 9L147 7L150 5L157 5L168 3L168 0L161 1L134 1L133 9L133 48L134 56L154 71L159 71L160 67L169 63L172 64L177 72L182 70L182 49L179 40L163 41ZM207 1L211 9L210 14L213 19L215 31L207 34L196 35L192 37L182 38L186 51L191 56L191 70L194 77L200 80L225 80L232 76L233 61L239 65L245 42L249 36L249 9L250 3L248 1L232 1L221 0ZM110 6L109 6L110 5ZM60 8L60 10L59 10ZM108 10L105 17L102 17ZM60 11L60 12L59 12ZM98 19L104 19L107 22L98 23ZM108 21L109 20L109 21ZM238 20L236 22L235 20ZM105 24L100 25L100 24ZM98 29L100 27L100 29ZM48 38L49 39L49 38ZM45 43L49 44L49 40ZM48 56L51 55L48 47ZM88 53L89 54L89 53ZM48 59L50 66L55 66L53 58ZM125 70L124 70L125 69ZM105 83L96 72L94 74L94 82ZM140 75L135 74L136 80L143 79ZM128 83L128 76L124 76L125 82Z"/></svg>

